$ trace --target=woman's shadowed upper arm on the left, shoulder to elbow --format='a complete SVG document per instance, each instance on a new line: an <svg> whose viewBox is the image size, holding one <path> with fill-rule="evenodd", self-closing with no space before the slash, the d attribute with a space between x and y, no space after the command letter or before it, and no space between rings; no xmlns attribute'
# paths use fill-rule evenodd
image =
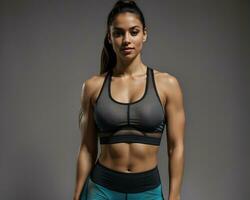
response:
<svg viewBox="0 0 250 200"><path fill-rule="evenodd" d="M89 151L96 152L97 132L93 117L93 107L91 104L92 88L87 81L83 83L80 97L79 129L81 132L81 146L85 146Z"/></svg>

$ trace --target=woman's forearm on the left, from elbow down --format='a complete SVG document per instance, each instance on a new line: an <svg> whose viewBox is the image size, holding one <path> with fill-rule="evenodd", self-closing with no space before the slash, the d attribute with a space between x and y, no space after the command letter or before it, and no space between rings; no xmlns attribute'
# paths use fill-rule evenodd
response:
<svg viewBox="0 0 250 200"><path fill-rule="evenodd" d="M74 191L74 200L78 200L82 191L83 185L90 171L95 164L96 156L91 155L85 148L79 151L76 169L76 185Z"/></svg>

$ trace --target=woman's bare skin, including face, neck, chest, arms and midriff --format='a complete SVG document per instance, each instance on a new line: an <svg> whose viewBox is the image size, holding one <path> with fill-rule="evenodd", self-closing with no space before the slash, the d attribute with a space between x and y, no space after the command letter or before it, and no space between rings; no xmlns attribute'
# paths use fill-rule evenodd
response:
<svg viewBox="0 0 250 200"><path fill-rule="evenodd" d="M133 28L134 27L134 28ZM117 29L119 28L119 29ZM117 56L113 69L111 96L119 102L134 102L140 99L145 88L146 65L141 60L147 30L133 13L119 14L109 30L109 42ZM127 54L121 48L134 50ZM97 99L106 73L94 75L82 86L81 107L82 133L78 156L77 181L74 199L78 199L85 178L97 159L97 130L93 119L93 105ZM185 113L180 84L173 75L154 70L156 88L168 121L167 155L169 156L169 200L179 200L184 167ZM122 88L122 90L121 90ZM154 168L159 146L140 143L102 144L99 162L116 171L133 173Z"/></svg>

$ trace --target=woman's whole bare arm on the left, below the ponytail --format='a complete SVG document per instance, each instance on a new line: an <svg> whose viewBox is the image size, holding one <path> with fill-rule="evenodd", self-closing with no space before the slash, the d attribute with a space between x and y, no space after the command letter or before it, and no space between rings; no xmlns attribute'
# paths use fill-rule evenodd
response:
<svg viewBox="0 0 250 200"><path fill-rule="evenodd" d="M79 128L82 139L77 159L76 185L73 200L79 200L85 180L95 164L98 153L98 138L91 104L92 93L93 87L91 87L91 80L89 79L83 83L80 98Z"/></svg>

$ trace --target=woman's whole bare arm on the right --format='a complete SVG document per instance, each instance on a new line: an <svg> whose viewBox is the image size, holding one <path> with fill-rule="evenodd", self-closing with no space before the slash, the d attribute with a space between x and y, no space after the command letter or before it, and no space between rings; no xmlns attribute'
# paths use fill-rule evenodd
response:
<svg viewBox="0 0 250 200"><path fill-rule="evenodd" d="M184 127L185 112L183 94L178 80L167 78L167 152L169 157L169 196L168 200L180 200L182 177L184 173Z"/></svg>

